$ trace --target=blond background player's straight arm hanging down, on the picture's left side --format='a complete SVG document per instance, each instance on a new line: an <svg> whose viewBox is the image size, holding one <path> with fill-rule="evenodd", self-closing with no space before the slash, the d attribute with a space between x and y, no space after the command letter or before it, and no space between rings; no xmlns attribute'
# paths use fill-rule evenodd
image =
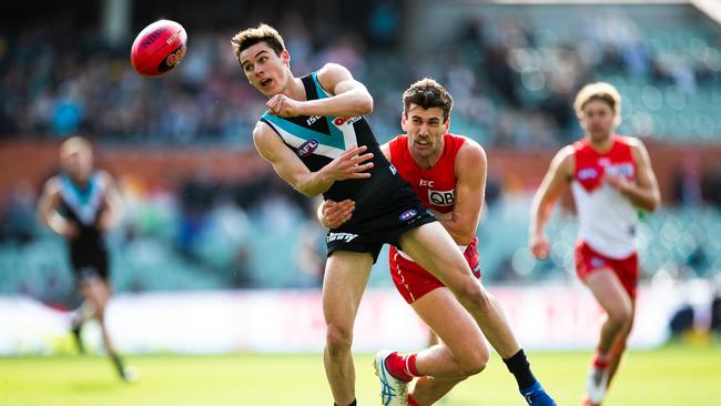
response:
<svg viewBox="0 0 721 406"><path fill-rule="evenodd" d="M528 234L531 253L538 258L546 258L550 251L544 230L551 217L554 204L568 189L575 165L573 149L571 146L561 149L554 156L544 181L534 195Z"/></svg>

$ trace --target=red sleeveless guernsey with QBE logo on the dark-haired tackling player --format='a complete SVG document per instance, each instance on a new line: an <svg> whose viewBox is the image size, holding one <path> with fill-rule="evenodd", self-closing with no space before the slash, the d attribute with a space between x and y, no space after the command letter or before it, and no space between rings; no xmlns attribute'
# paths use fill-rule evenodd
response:
<svg viewBox="0 0 721 406"><path fill-rule="evenodd" d="M410 154L408 136L398 135L389 143L390 163L398 170L400 177L410 184L426 207L449 215L456 200L456 155L465 142L464 136L445 134L444 150L438 162L429 169L424 169ZM474 241L476 240L474 236ZM461 252L466 250L466 245L459 247ZM403 252L400 255L410 260Z"/></svg>

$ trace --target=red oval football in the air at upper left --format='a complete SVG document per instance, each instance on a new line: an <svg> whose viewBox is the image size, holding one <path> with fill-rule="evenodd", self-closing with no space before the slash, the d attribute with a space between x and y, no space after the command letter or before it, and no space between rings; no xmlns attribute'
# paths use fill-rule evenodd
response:
<svg viewBox="0 0 721 406"><path fill-rule="evenodd" d="M145 27L133 42L130 62L138 73L161 75L185 57L187 33L183 26L171 20L159 20Z"/></svg>

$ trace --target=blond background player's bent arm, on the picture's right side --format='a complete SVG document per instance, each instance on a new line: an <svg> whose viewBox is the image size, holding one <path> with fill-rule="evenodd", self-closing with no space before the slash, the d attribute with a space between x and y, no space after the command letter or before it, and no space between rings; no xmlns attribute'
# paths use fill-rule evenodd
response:
<svg viewBox="0 0 721 406"><path fill-rule="evenodd" d="M656 174L651 168L651 159L646 146L641 141L633 140L631 153L636 161L636 183L629 182L621 176L610 175L607 175L605 181L623 193L634 206L652 212L661 203L659 182L656 180Z"/></svg>

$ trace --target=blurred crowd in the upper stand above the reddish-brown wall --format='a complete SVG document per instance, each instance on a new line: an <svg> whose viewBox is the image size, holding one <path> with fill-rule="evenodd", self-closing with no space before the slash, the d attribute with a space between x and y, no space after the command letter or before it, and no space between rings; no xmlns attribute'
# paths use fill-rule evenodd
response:
<svg viewBox="0 0 721 406"><path fill-rule="evenodd" d="M577 21L582 31L569 37L562 27L524 18L475 16L454 24L449 44L419 54L403 42L409 21L398 2L377 0L359 9L366 12L286 7L271 19L251 13L222 29L200 27L190 32L185 61L154 80L132 71L131 39L110 47L71 18L30 24L0 39L0 134L80 132L112 141L247 148L264 100L247 85L230 38L258 21L284 34L296 74L338 62L366 82L376 99L372 121L380 140L399 131L400 93L425 75L455 97L453 129L489 146L554 148L578 136L572 98L599 79L616 79L626 98L622 131L672 131L652 125L653 113L667 104L687 118L669 123L676 131L698 136L721 131L721 121L693 110L708 102L702 90L721 84L718 43L699 28L671 40L642 32L622 12L606 12ZM710 97L721 101L721 93Z"/></svg>

